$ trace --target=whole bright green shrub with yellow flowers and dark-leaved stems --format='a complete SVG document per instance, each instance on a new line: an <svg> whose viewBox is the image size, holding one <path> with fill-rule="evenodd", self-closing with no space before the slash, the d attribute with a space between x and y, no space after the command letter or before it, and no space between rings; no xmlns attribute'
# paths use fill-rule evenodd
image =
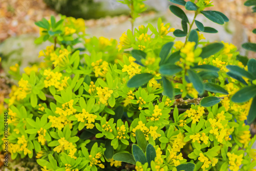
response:
<svg viewBox="0 0 256 171"><path fill-rule="evenodd" d="M10 68L18 80L6 99L11 158L35 157L43 171L254 170L256 138L246 120L256 116L256 60L237 60L232 44L203 41L202 32L217 30L198 14L228 22L204 10L212 2L171 2L195 11L190 23L170 6L183 30L159 18L157 27L127 30L119 44L85 36L82 19L37 22L35 42L53 45L22 75ZM145 8L140 0L123 3L132 23Z"/></svg>

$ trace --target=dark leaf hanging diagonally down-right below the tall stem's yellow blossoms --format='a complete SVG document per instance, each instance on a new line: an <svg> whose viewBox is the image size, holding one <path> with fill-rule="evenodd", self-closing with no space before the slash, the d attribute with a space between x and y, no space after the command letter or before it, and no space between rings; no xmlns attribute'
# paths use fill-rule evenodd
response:
<svg viewBox="0 0 256 171"><path fill-rule="evenodd" d="M188 79L193 83L194 88L198 91L199 94L204 93L204 86L202 78L195 73L193 70L187 70Z"/></svg>

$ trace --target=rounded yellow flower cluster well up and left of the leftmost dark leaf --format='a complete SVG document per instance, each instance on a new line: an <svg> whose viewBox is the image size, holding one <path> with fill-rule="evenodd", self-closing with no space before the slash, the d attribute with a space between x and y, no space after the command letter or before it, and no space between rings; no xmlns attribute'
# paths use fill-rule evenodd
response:
<svg viewBox="0 0 256 171"><path fill-rule="evenodd" d="M93 72L95 73L95 77L105 77L108 72L109 63L107 61L103 61L102 59L97 60L96 62L91 63L93 67Z"/></svg>

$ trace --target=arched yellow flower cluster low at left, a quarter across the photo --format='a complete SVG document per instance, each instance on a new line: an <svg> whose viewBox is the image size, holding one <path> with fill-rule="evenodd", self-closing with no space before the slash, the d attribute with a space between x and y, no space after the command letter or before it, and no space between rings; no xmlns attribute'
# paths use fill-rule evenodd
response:
<svg viewBox="0 0 256 171"><path fill-rule="evenodd" d="M54 152L60 153L63 152L64 150L69 151L69 156L71 158L76 159L77 157L74 156L76 152L75 145L73 145L72 142L67 141L64 137L61 137L59 140L59 145L53 148Z"/></svg>

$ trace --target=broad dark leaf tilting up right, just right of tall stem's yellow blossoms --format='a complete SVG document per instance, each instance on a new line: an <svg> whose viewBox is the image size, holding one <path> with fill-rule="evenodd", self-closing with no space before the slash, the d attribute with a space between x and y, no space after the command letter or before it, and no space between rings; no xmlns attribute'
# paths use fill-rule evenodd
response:
<svg viewBox="0 0 256 171"><path fill-rule="evenodd" d="M202 48L202 53L200 56L204 59L211 55L214 55L218 53L222 48L224 48L224 45L222 43L213 43L209 44Z"/></svg>

